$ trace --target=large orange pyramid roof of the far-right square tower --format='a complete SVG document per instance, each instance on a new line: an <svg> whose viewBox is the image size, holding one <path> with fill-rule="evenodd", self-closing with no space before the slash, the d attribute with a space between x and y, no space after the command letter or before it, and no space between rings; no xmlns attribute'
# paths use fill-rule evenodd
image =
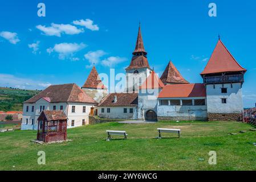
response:
<svg viewBox="0 0 256 182"><path fill-rule="evenodd" d="M218 41L208 64L201 75L221 72L246 71L237 63L231 53L227 50L221 40Z"/></svg>

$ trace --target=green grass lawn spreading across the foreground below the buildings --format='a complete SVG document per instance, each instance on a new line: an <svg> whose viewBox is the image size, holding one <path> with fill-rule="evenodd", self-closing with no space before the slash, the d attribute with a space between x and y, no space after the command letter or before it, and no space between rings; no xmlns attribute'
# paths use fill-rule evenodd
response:
<svg viewBox="0 0 256 182"><path fill-rule="evenodd" d="M181 129L157 137L157 127ZM239 122L101 123L68 129L71 142L39 145L36 131L0 133L0 170L255 170L256 132ZM107 142L105 130L126 130ZM244 130L246 133L239 133ZM237 133L237 135L229 135ZM46 152L46 165L37 163ZM217 165L208 163L217 152Z"/></svg>

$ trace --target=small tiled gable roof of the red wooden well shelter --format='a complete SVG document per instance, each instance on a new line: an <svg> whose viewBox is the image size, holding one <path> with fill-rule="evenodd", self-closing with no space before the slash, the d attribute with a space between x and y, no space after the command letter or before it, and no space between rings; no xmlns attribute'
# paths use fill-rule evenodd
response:
<svg viewBox="0 0 256 182"><path fill-rule="evenodd" d="M62 110L43 110L38 117L38 121L45 117L47 121L66 120L67 115Z"/></svg>

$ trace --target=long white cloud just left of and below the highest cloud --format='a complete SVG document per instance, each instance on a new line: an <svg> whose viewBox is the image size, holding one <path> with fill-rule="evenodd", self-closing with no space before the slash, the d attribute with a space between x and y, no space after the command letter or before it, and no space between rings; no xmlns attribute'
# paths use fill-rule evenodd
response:
<svg viewBox="0 0 256 182"><path fill-rule="evenodd" d="M71 24L51 23L50 27L42 26L39 24L38 26L36 26L36 28L42 31L44 35L58 37L60 37L62 34L75 35L84 32L83 28L78 29L77 27L72 26Z"/></svg>

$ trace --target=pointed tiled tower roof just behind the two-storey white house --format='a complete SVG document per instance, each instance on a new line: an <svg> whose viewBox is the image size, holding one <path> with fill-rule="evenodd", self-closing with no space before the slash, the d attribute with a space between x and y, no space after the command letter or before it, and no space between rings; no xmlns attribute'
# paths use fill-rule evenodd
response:
<svg viewBox="0 0 256 182"><path fill-rule="evenodd" d="M95 67L92 68L91 73L82 88L107 89L100 80L99 73L97 73Z"/></svg>

